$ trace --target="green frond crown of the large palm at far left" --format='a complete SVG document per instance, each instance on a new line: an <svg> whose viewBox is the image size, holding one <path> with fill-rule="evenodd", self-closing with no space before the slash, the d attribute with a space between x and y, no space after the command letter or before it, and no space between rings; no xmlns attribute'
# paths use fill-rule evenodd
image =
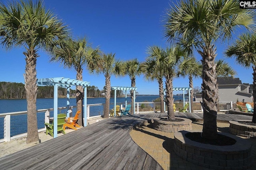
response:
<svg viewBox="0 0 256 170"><path fill-rule="evenodd" d="M6 48L24 46L27 50L46 50L53 41L69 36L67 26L50 10L46 11L42 1L1 4L0 16L1 32L4 32L0 43Z"/></svg>

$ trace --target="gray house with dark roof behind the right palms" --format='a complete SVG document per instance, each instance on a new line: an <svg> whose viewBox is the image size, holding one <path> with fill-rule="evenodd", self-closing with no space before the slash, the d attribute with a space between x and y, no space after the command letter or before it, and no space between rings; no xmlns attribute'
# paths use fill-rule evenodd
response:
<svg viewBox="0 0 256 170"><path fill-rule="evenodd" d="M239 78L218 77L219 101L252 102L252 85L242 83ZM196 94L196 101L202 101L202 95Z"/></svg>

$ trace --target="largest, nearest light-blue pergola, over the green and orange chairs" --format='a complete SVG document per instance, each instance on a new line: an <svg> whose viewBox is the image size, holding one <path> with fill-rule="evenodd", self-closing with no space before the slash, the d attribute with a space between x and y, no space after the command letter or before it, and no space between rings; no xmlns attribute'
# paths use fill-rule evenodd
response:
<svg viewBox="0 0 256 170"><path fill-rule="evenodd" d="M84 88L84 126L87 126L87 86L90 85L90 82L85 82L81 80L75 80L70 78L64 77L57 77L57 78L39 78L37 80L37 84L45 85L45 86L54 86L54 116L53 121L57 121L57 114L58 114L58 87L68 87L67 92L67 117L69 117L69 91L71 86L83 86ZM57 137L57 124L53 125L53 137Z"/></svg>

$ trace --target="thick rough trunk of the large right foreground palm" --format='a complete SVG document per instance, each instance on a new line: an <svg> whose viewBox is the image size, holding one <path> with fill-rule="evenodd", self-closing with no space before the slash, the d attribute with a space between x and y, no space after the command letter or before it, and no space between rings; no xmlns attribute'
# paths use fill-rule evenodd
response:
<svg viewBox="0 0 256 170"><path fill-rule="evenodd" d="M203 138L217 138L217 102L218 88L216 78L216 48L214 46L203 47L203 52L198 51L202 56L202 106L204 109Z"/></svg>

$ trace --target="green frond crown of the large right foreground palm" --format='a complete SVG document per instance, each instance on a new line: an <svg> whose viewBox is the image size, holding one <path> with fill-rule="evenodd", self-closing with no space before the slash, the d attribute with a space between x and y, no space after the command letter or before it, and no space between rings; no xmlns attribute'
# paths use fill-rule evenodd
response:
<svg viewBox="0 0 256 170"><path fill-rule="evenodd" d="M195 46L230 39L238 26L255 29L255 10L240 9L238 0L181 0L167 12L164 25L168 41L192 38Z"/></svg>

